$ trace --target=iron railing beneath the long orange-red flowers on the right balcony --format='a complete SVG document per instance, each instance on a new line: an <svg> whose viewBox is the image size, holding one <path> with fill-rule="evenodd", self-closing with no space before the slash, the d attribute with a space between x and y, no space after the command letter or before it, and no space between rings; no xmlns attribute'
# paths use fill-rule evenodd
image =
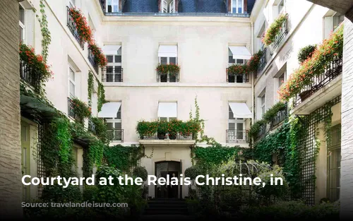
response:
<svg viewBox="0 0 353 221"><path fill-rule="evenodd" d="M320 90L325 85L328 85L337 76L342 73L342 56L335 56L335 58L325 66L325 71L311 79L311 84L305 85L301 92L294 97L293 107L297 107L306 98L313 95L314 92Z"/></svg>

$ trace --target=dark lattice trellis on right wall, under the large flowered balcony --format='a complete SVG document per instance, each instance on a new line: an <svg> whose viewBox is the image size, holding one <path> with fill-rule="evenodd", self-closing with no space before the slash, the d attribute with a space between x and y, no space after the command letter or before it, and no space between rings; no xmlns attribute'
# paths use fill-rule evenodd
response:
<svg viewBox="0 0 353 221"><path fill-rule="evenodd" d="M341 101L341 96L335 97L330 102L319 107L311 114L300 117L303 123L305 135L300 141L300 165L301 165L301 197L304 198L306 204L313 205L315 203L315 165L316 165L316 129L328 117L332 116L331 107Z"/></svg>

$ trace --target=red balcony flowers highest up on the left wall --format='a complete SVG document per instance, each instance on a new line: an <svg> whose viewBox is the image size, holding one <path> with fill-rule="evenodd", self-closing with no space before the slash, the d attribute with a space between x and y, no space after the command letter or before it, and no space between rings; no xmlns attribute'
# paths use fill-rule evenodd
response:
<svg viewBox="0 0 353 221"><path fill-rule="evenodd" d="M87 19L83 16L82 11L78 8L70 8L71 19L76 23L76 29L80 38L88 44L92 44L92 30L88 25Z"/></svg>

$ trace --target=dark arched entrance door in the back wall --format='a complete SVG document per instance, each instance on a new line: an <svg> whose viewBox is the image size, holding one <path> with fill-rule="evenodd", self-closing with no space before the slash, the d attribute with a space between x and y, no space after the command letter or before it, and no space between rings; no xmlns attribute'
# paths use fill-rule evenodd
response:
<svg viewBox="0 0 353 221"><path fill-rule="evenodd" d="M180 162L164 161L155 163L155 176L157 179L164 177L169 180L181 174ZM155 186L155 198L178 198L179 186L181 185L157 185Z"/></svg>

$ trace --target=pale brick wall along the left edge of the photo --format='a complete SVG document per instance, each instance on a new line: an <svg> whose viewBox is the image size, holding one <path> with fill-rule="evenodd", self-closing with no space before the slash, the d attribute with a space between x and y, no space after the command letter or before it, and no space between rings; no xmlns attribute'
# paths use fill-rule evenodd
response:
<svg viewBox="0 0 353 221"><path fill-rule="evenodd" d="M0 217L22 216L18 1L0 1Z"/></svg>

